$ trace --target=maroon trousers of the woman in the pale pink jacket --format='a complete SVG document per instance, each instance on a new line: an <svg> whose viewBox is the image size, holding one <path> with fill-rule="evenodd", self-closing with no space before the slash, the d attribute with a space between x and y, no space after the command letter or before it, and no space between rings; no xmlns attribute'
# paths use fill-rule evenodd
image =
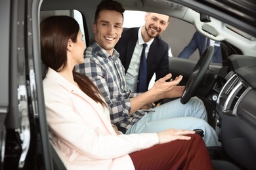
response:
<svg viewBox="0 0 256 170"><path fill-rule="evenodd" d="M214 169L202 137L190 136L190 141L156 144L129 156L137 170Z"/></svg>

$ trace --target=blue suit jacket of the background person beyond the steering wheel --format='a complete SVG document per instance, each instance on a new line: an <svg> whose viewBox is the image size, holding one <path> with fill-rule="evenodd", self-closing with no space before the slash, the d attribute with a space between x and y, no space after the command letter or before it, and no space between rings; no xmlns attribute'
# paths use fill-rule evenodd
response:
<svg viewBox="0 0 256 170"><path fill-rule="evenodd" d="M205 40L206 37L202 34L194 33L189 44L182 50L181 54L179 54L178 58L189 58L198 48L200 56L202 56L205 50ZM215 42L221 44L221 42ZM221 56L221 46L214 46L214 53L212 58L213 63L222 63L223 59Z"/></svg>

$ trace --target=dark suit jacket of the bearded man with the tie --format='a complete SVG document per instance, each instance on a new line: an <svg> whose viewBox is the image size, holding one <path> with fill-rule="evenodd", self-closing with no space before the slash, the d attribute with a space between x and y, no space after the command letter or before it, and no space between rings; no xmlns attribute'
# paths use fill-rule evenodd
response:
<svg viewBox="0 0 256 170"><path fill-rule="evenodd" d="M121 63L125 67L125 74L131 63L133 51L135 50L136 43L138 41L139 27L124 28L121 38L117 42L115 49L119 52ZM169 46L166 42L156 37L148 52L147 63L147 86L156 73L156 80L162 78L169 73Z"/></svg>

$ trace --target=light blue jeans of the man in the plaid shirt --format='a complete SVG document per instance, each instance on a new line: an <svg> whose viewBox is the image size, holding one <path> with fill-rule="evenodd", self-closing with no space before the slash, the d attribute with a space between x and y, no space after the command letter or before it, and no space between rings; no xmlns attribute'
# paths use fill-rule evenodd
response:
<svg viewBox="0 0 256 170"><path fill-rule="evenodd" d="M136 124L126 131L130 133L152 133L165 129L202 129L206 146L221 146L217 133L207 123L207 112L198 97L192 97L186 105L180 99L170 101L147 112Z"/></svg>

